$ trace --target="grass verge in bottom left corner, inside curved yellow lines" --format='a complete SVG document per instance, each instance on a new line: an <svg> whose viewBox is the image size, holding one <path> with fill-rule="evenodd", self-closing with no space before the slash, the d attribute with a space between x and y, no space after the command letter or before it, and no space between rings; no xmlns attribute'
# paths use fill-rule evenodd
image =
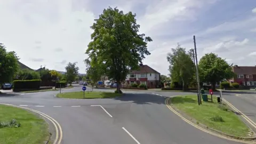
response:
<svg viewBox="0 0 256 144"><path fill-rule="evenodd" d="M44 143L49 138L44 119L20 108L0 105L0 122L9 122L13 118L20 122L20 127L0 128L0 143Z"/></svg>

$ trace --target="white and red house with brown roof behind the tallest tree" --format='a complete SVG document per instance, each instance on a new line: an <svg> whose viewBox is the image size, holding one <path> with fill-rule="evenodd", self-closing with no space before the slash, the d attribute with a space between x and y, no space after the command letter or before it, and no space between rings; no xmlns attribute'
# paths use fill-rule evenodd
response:
<svg viewBox="0 0 256 144"><path fill-rule="evenodd" d="M132 70L125 79L127 84L146 84L149 89L161 87L160 73L140 63L139 70Z"/></svg>

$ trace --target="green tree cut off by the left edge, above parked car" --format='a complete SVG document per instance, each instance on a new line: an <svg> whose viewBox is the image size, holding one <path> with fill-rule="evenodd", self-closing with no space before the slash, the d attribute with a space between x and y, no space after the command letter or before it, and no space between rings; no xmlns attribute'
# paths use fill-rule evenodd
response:
<svg viewBox="0 0 256 144"><path fill-rule="evenodd" d="M7 52L4 44L0 43L0 85L11 82L19 70L18 56L14 51Z"/></svg>

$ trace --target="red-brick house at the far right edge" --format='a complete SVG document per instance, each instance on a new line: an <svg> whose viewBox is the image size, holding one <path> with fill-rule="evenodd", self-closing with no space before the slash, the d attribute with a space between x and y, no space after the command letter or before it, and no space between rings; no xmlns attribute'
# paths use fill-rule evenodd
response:
<svg viewBox="0 0 256 144"><path fill-rule="evenodd" d="M246 67L235 65L233 67L233 71L236 76L234 78L231 78L229 82L248 86L256 85L256 66Z"/></svg>

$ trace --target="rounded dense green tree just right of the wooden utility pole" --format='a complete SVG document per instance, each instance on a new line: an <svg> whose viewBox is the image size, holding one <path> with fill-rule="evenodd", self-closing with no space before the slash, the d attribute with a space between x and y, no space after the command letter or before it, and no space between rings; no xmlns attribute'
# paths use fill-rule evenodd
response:
<svg viewBox="0 0 256 144"><path fill-rule="evenodd" d="M225 59L218 57L217 54L207 53L198 63L200 81L210 82L212 89L215 90L215 84L223 79L230 79L234 76L232 65L229 65Z"/></svg>

